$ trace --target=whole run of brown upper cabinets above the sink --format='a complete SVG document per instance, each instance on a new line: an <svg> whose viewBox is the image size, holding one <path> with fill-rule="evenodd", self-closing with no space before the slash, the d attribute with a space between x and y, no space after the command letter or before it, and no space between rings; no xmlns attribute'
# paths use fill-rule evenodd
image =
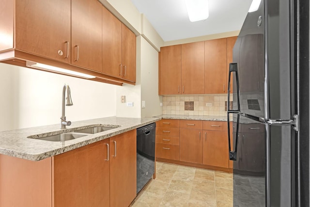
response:
<svg viewBox="0 0 310 207"><path fill-rule="evenodd" d="M136 35L98 0L2 0L1 5L0 62L25 67L31 61L96 77L90 80L135 84ZM114 71L114 62L116 75L108 71Z"/></svg>

